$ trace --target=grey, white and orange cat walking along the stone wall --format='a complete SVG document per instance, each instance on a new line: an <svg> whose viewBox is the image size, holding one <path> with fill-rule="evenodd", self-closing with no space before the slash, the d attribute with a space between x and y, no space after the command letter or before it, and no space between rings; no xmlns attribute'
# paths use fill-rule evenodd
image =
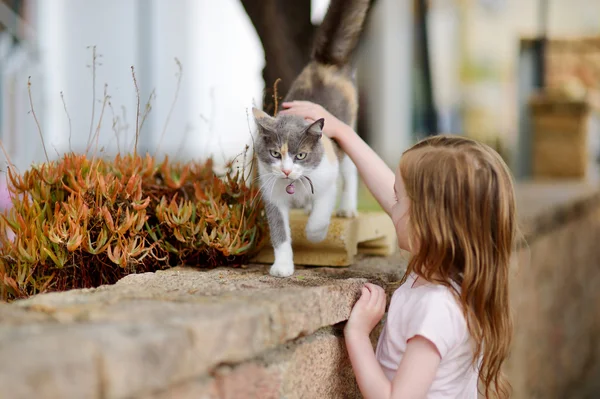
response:
<svg viewBox="0 0 600 399"><path fill-rule="evenodd" d="M369 3L330 2L315 37L311 61L292 83L284 102L312 101L356 128L358 93L351 58ZM305 229L309 241L324 240L335 211L340 175L342 192L336 214L346 218L358 215L358 173L338 144L323 134L323 119L309 123L295 115L272 117L257 108L252 112L258 133L254 154L275 255L269 273L289 277L294 273L290 209L304 208L309 214Z"/></svg>

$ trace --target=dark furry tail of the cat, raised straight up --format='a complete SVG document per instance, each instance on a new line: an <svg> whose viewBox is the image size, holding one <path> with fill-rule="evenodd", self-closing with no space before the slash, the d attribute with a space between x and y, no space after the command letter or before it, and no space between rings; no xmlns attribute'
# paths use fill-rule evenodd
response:
<svg viewBox="0 0 600 399"><path fill-rule="evenodd" d="M313 60L326 65L348 64L370 3L371 0L331 0L315 37Z"/></svg>

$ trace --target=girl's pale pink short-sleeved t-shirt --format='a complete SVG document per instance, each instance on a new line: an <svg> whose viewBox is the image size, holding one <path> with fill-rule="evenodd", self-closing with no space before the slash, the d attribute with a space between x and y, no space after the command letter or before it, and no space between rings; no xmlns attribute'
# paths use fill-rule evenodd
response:
<svg viewBox="0 0 600 399"><path fill-rule="evenodd" d="M442 360L428 399L477 399L477 370L473 344L459 303L447 287L426 283L412 287L408 276L390 301L387 320L375 356L390 381L394 378L407 341L421 335L435 344Z"/></svg>

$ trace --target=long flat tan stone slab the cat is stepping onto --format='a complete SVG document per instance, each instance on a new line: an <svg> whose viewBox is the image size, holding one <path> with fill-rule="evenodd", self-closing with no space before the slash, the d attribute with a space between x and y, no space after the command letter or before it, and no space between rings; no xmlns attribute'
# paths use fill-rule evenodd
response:
<svg viewBox="0 0 600 399"><path fill-rule="evenodd" d="M15 399L165 389L346 320L365 281L401 276L400 256L373 262L289 279L265 266L176 268L17 301L0 308L0 359L14 359L0 362L0 384Z"/></svg>

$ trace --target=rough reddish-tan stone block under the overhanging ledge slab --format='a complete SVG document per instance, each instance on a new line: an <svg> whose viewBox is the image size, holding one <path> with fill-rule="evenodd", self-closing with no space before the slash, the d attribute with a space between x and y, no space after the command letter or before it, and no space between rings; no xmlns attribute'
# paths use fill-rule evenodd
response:
<svg viewBox="0 0 600 399"><path fill-rule="evenodd" d="M145 396L167 398L360 398L341 331L324 329L239 366Z"/></svg>

